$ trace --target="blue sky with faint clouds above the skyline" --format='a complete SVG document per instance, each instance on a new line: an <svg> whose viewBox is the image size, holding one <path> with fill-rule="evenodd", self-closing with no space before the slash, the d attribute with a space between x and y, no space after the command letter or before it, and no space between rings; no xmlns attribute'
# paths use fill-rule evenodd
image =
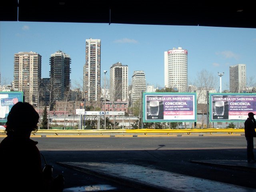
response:
<svg viewBox="0 0 256 192"><path fill-rule="evenodd" d="M1 84L13 80L14 54L36 52L42 56L42 78L49 77L51 54L61 50L71 57L71 84L82 85L86 39L101 40L101 74L109 78L116 62L128 65L128 83L134 71L143 70L149 85L164 87L164 52L188 50L188 84L196 84L198 73L207 70L222 76L222 90L229 89L229 66L246 64L247 78L255 77L256 29L204 26L135 24L0 22Z"/></svg>

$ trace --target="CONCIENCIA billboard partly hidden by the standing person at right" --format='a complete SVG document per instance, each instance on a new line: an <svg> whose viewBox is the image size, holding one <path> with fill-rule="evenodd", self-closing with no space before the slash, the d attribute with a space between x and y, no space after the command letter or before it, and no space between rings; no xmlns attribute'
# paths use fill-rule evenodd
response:
<svg viewBox="0 0 256 192"><path fill-rule="evenodd" d="M256 94L251 93L210 93L209 120L245 121L248 112L256 113Z"/></svg>

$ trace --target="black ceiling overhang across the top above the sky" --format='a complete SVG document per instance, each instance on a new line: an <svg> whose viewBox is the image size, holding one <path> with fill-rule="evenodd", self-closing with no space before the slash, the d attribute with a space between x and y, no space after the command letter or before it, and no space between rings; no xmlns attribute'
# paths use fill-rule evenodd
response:
<svg viewBox="0 0 256 192"><path fill-rule="evenodd" d="M5 0L0 20L256 28L256 11L248 1Z"/></svg>

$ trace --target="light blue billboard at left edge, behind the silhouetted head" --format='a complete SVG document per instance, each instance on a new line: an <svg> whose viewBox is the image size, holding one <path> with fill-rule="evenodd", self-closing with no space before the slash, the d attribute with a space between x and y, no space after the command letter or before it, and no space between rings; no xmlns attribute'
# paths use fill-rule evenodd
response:
<svg viewBox="0 0 256 192"><path fill-rule="evenodd" d="M17 102L24 102L23 92L0 92L0 122L6 122L10 109Z"/></svg>

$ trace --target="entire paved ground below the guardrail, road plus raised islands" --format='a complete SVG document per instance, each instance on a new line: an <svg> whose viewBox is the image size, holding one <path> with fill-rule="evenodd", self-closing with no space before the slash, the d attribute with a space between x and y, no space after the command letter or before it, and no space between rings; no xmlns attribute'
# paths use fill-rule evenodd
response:
<svg viewBox="0 0 256 192"><path fill-rule="evenodd" d="M244 136L32 139L64 192L256 191Z"/></svg>

